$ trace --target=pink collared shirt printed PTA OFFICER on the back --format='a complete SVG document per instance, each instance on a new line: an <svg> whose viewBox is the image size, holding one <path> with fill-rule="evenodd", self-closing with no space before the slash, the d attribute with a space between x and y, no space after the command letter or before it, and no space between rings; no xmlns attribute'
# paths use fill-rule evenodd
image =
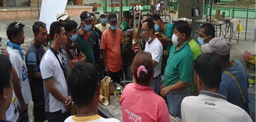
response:
<svg viewBox="0 0 256 122"><path fill-rule="evenodd" d="M125 86L120 105L123 121L170 121L167 105L150 86Z"/></svg>

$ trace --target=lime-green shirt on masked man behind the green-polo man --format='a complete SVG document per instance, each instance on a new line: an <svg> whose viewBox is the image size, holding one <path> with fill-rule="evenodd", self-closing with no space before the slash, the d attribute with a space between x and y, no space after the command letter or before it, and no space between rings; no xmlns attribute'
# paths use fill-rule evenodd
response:
<svg viewBox="0 0 256 122"><path fill-rule="evenodd" d="M192 39L190 42L188 42L188 44L189 44L190 49L194 55L194 59L197 59L197 57L203 53L201 47L194 39ZM192 77L192 80L190 82L190 91L191 92L195 91L195 86L196 85L194 82L194 77Z"/></svg>

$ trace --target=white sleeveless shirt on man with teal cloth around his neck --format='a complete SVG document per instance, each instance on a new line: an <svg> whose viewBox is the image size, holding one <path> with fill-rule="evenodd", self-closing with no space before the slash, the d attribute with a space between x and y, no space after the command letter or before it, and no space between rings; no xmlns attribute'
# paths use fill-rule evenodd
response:
<svg viewBox="0 0 256 122"><path fill-rule="evenodd" d="M22 91L24 102L28 104L32 100L32 94L24 60L17 49L12 49L8 46L7 51L10 53L10 61L18 74L20 90Z"/></svg>

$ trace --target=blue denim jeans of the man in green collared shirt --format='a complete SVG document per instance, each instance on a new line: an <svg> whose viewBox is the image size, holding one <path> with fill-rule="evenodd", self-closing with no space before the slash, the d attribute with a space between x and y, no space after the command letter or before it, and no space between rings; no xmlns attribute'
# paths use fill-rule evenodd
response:
<svg viewBox="0 0 256 122"><path fill-rule="evenodd" d="M189 86L187 86L182 90L176 90L176 91L170 92L167 95L169 113L172 113L173 115L181 118L181 111L180 111L181 101L187 96L190 96Z"/></svg>

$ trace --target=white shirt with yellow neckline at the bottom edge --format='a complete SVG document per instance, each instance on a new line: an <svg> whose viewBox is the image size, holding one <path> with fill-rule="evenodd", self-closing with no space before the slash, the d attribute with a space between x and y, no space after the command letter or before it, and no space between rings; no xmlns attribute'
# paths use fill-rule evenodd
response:
<svg viewBox="0 0 256 122"><path fill-rule="evenodd" d="M120 122L116 118L103 118L99 115L76 117L75 115L66 118L65 122L76 122L76 121L87 121L87 122Z"/></svg>

